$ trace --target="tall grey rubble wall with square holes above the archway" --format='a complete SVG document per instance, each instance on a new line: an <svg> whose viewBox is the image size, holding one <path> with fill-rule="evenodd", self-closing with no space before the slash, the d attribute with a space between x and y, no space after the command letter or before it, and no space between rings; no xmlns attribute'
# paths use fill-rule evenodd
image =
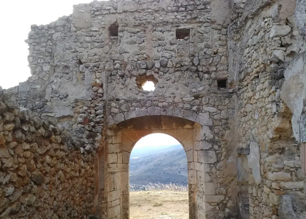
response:
<svg viewBox="0 0 306 219"><path fill-rule="evenodd" d="M229 74L229 8L222 3L110 1L74 6L70 16L31 26L26 42L32 77L7 93L11 101L68 129L84 143L83 155L97 151L105 172L113 162L108 155L112 145L104 142L106 127L145 115L198 119L204 126L196 147L210 155L211 167L205 170L209 182L218 182L210 197L201 196L199 203L206 204L198 206L198 217L206 216L204 208L207 217L235 215L237 195L230 185L235 184L236 169L227 169L227 163L235 163L228 161L234 94L230 87L217 86L217 79ZM110 36L114 25L118 36ZM189 37L177 40L181 29L189 29ZM154 92L141 89L147 77L154 79ZM204 164L204 159L197 163ZM99 181L98 209L103 215L116 206L105 203L108 176L99 175Z"/></svg>

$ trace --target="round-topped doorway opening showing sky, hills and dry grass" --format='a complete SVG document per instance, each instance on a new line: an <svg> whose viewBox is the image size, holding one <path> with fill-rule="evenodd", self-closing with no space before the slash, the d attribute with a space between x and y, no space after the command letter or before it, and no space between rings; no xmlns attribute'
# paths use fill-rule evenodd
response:
<svg viewBox="0 0 306 219"><path fill-rule="evenodd" d="M137 141L129 159L130 218L189 218L187 169L185 150L170 135Z"/></svg>

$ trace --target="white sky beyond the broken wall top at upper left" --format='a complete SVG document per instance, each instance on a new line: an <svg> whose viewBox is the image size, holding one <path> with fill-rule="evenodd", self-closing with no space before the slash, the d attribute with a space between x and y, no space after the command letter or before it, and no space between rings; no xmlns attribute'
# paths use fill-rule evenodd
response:
<svg viewBox="0 0 306 219"><path fill-rule="evenodd" d="M26 81L30 74L28 67L28 38L31 25L45 25L58 17L69 15L73 5L92 0L3 0L1 1L1 70L0 86L3 89L17 86Z"/></svg>

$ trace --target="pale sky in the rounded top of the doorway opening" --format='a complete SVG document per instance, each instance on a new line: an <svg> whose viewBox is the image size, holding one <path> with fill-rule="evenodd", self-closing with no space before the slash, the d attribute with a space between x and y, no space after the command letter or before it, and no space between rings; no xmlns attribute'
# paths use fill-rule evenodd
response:
<svg viewBox="0 0 306 219"><path fill-rule="evenodd" d="M170 135L154 133L141 138L137 141L134 148L171 146L177 144L180 144L180 142Z"/></svg>

